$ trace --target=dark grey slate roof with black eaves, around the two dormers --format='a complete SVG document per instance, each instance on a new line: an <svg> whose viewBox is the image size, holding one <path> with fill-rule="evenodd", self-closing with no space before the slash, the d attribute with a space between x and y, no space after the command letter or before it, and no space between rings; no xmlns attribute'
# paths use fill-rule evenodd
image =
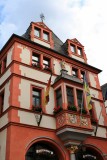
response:
<svg viewBox="0 0 107 160"><path fill-rule="evenodd" d="M10 43L10 41L14 37L17 37L17 38L22 39L22 40L26 40L26 41L31 42L32 44L34 44L35 42L31 41L31 39L30 39L31 24L32 24L32 22L30 23L30 26L28 27L28 29L26 30L26 32L22 36L19 36L19 35L16 35L16 34L12 34L12 36L8 39L8 41L5 43L5 45L0 50L0 55L3 52L3 50L5 49L5 47ZM74 59L72 57L69 57L68 56L68 52L67 52L67 48L68 48L67 41L65 43L63 43L53 32L52 32L52 37L53 37L53 41L54 41L54 49L47 48L47 47L43 46L44 48L47 48L48 50L54 51L57 54L60 54L60 55L63 55L64 57L72 59L73 61L79 62L79 63L83 64L84 66L88 66L88 67L90 67L90 69L93 69L93 70L97 71L98 73L100 73L102 71L102 70L100 70L100 69L98 69L96 67L93 67L93 66L91 66L91 65L89 65L87 63L83 63L83 62L81 62L79 60L76 60L76 59ZM71 40L76 40L77 41L77 39L71 39ZM38 43L36 43L36 45L41 46Z"/></svg>

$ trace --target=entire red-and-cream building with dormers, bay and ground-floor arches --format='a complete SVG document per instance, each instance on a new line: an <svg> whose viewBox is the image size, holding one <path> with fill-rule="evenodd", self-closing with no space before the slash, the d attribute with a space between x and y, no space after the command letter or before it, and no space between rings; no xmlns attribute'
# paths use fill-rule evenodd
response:
<svg viewBox="0 0 107 160"><path fill-rule="evenodd" d="M13 34L0 51L0 160L107 159L100 72L76 38L63 43L44 22Z"/></svg>

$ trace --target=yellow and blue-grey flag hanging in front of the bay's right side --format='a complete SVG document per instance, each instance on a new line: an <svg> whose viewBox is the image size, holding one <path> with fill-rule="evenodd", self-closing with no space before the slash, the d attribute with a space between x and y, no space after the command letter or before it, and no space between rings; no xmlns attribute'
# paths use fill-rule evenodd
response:
<svg viewBox="0 0 107 160"><path fill-rule="evenodd" d="M83 86L84 91L86 93L86 100L87 100L88 109L91 110L92 109L92 100L91 100L90 89L89 89L86 73L84 74L83 85L84 85Z"/></svg>

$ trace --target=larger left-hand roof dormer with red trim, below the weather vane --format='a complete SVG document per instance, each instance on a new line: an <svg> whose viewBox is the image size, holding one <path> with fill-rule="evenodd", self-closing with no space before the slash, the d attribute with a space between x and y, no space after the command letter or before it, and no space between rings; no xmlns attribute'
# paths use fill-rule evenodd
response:
<svg viewBox="0 0 107 160"><path fill-rule="evenodd" d="M53 49L52 31L43 22L31 23L30 37L32 41Z"/></svg>

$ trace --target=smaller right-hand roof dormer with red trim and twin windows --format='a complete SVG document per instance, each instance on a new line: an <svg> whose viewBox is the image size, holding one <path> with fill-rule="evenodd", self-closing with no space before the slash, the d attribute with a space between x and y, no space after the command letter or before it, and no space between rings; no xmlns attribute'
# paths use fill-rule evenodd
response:
<svg viewBox="0 0 107 160"><path fill-rule="evenodd" d="M68 39L68 55L81 62L87 63L87 57L84 52L84 46L76 39Z"/></svg>

